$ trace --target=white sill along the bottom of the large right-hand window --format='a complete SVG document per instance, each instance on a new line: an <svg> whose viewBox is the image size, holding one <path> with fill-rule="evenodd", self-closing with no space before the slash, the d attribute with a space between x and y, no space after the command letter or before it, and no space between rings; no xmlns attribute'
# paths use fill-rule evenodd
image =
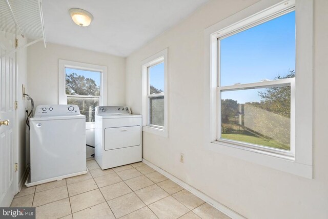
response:
<svg viewBox="0 0 328 219"><path fill-rule="evenodd" d="M275 154L275 156L273 156L272 154L260 150L218 141L211 142L208 146L208 150L224 153L244 161L312 179L312 166L298 163L297 160L292 161L290 157L286 159L283 155Z"/></svg>

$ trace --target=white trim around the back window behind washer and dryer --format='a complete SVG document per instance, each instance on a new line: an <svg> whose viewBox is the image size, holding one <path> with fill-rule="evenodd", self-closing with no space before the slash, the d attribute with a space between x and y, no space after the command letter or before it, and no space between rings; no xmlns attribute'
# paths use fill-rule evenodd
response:
<svg viewBox="0 0 328 219"><path fill-rule="evenodd" d="M97 71L101 73L100 85L100 102L99 106L107 105L107 66L94 65L89 63L80 63L58 59L58 104L67 104L67 96L65 92L66 72L65 68ZM87 129L94 128L94 122L86 123Z"/></svg>

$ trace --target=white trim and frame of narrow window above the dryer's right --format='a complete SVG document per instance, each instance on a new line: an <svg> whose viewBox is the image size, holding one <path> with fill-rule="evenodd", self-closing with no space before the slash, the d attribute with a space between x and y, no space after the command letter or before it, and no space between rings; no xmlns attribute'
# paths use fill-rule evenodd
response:
<svg viewBox="0 0 328 219"><path fill-rule="evenodd" d="M164 63L164 127L156 127L148 124L148 67L158 63ZM152 134L168 137L168 49L162 50L148 58L141 63L142 65L142 131Z"/></svg>

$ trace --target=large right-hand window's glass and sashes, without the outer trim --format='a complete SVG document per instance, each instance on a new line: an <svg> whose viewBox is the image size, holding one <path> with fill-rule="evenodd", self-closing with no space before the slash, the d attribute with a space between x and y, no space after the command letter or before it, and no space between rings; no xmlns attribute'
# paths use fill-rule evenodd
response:
<svg viewBox="0 0 328 219"><path fill-rule="evenodd" d="M217 141L294 156L295 11L290 10L218 35Z"/></svg>

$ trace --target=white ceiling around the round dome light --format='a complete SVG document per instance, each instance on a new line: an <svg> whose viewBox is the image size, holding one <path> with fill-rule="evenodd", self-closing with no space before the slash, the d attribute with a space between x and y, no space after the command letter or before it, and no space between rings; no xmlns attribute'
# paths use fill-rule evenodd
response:
<svg viewBox="0 0 328 219"><path fill-rule="evenodd" d="M209 0L44 0L47 42L128 56L179 23ZM73 23L68 10L81 8L94 19Z"/></svg>

